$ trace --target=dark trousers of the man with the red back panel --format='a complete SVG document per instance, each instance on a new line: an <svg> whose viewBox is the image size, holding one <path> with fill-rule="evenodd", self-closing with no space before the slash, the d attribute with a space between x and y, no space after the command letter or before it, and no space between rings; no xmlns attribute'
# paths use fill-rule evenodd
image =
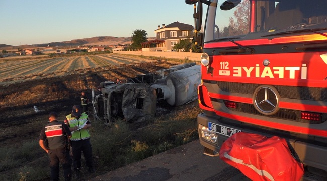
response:
<svg viewBox="0 0 327 181"><path fill-rule="evenodd" d="M65 180L71 179L71 157L69 151L65 149L49 150L51 180L59 180L59 162L63 168Z"/></svg>

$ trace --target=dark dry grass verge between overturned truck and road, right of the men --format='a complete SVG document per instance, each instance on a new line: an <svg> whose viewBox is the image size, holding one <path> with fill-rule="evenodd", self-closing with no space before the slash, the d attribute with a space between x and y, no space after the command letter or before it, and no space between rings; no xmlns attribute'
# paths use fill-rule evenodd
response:
<svg viewBox="0 0 327 181"><path fill-rule="evenodd" d="M97 123L91 140L98 167L104 168L102 172L113 170L198 139L196 116L200 112L192 103L137 130L122 120L112 127Z"/></svg>

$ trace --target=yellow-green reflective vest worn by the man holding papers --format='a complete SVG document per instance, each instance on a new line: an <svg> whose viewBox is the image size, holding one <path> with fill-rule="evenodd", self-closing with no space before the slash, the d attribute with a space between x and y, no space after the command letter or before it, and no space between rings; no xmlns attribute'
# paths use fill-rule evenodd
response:
<svg viewBox="0 0 327 181"><path fill-rule="evenodd" d="M89 121L88 119L88 115L85 113L82 113L79 117L79 119L71 116L71 114L66 116L67 121L69 123L69 127L73 128L75 126L78 126L80 128L82 128L83 124L87 121ZM89 139L90 138L90 133L88 129L80 129L77 131L74 131L72 133L72 136L70 138L71 141L79 141L79 140L85 140L85 139Z"/></svg>

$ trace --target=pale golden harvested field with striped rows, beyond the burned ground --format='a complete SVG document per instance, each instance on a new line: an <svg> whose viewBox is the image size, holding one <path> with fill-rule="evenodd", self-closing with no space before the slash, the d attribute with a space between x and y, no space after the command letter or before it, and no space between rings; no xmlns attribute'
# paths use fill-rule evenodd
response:
<svg viewBox="0 0 327 181"><path fill-rule="evenodd" d="M31 58L24 56L0 59L0 85L40 79L51 74L53 77L65 76L87 68L153 61L132 56L126 59L126 56L117 54L35 58L35 56Z"/></svg>

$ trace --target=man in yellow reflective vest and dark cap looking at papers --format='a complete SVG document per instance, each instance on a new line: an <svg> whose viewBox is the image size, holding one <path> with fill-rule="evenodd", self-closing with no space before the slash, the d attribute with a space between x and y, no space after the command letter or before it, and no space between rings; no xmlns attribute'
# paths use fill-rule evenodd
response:
<svg viewBox="0 0 327 181"><path fill-rule="evenodd" d="M69 126L72 136L70 144L72 147L72 163L76 177L80 177L81 169L81 154L85 157L86 165L89 167L89 172L94 173L92 163L92 146L90 141L89 128L91 122L87 114L83 113L79 105L74 105L71 114L66 116L65 123Z"/></svg>

